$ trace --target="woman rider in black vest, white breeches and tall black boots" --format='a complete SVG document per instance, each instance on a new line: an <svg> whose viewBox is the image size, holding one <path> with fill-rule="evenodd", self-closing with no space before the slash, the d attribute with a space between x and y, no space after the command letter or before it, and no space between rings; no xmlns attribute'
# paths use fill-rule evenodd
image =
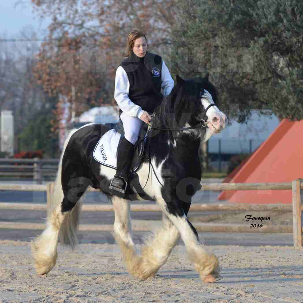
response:
<svg viewBox="0 0 303 303"><path fill-rule="evenodd" d="M125 193L134 145L142 122L149 123L151 114L174 86L164 60L147 51L146 35L133 29L127 38L126 56L116 71L115 95L125 132L117 151L117 173L110 189ZM161 94L161 89L163 95Z"/></svg>

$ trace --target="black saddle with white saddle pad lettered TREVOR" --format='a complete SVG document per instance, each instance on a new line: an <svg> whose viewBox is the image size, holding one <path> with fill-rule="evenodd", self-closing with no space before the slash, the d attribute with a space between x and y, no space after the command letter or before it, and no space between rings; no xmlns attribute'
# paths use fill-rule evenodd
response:
<svg viewBox="0 0 303 303"><path fill-rule="evenodd" d="M95 146L93 157L101 165L117 169L117 150L122 138L124 137L123 122L119 119L116 124L106 123L104 125L107 127L108 131L103 133L103 135L101 134L102 136ZM142 123L138 142L135 146L135 154L132 158L127 194L130 197L133 194L138 194L144 200L154 201L154 199L147 195L142 189L138 174L136 173L142 164L142 155L145 150L147 135L148 125ZM130 198L130 200L134 199Z"/></svg>

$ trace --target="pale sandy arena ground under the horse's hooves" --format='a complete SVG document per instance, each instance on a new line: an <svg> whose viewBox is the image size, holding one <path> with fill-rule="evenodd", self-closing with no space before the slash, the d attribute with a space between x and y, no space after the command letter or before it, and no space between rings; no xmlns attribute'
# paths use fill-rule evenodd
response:
<svg viewBox="0 0 303 303"><path fill-rule="evenodd" d="M140 245L137 245L140 249ZM139 281L123 265L117 245L58 247L55 268L37 276L29 242L0 241L0 302L301 302L303 250L284 246L207 246L223 279L202 283L184 245L155 278Z"/></svg>

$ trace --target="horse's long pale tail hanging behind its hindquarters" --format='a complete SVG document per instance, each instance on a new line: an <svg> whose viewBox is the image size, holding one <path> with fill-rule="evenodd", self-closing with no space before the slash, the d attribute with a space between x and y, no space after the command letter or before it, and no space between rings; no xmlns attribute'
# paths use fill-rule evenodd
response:
<svg viewBox="0 0 303 303"><path fill-rule="evenodd" d="M64 198L64 192L62 189L62 182L61 182L61 176L62 176L62 159L65 154L65 149L68 145L69 139L74 134L75 131L72 131L68 138L65 140L63 151L60 157L60 162L58 166L58 172L57 177L55 180L55 185L52 191L51 195L51 203L48 207L48 220L54 221L55 217L54 212L56 215L61 214L61 204ZM78 244L78 238L77 238L77 231L78 231L78 225L79 225L79 215L81 210L82 204L77 202L75 206L72 208L71 211L69 211L67 214L65 214L64 221L60 227L59 232L59 241L61 243L69 245L71 248L74 248L75 245ZM53 215L52 215L53 213Z"/></svg>

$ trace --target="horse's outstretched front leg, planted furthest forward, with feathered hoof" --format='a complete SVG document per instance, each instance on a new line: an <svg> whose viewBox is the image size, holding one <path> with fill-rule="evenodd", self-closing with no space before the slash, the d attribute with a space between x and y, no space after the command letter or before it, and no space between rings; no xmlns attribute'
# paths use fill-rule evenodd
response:
<svg viewBox="0 0 303 303"><path fill-rule="evenodd" d="M219 275L219 261L213 253L208 253L205 247L198 241L198 233L188 221L182 205L184 202L178 198L169 200L169 205L164 199L159 203L163 212L178 229L190 260L194 263L200 278L204 282L215 282L222 277Z"/></svg>

